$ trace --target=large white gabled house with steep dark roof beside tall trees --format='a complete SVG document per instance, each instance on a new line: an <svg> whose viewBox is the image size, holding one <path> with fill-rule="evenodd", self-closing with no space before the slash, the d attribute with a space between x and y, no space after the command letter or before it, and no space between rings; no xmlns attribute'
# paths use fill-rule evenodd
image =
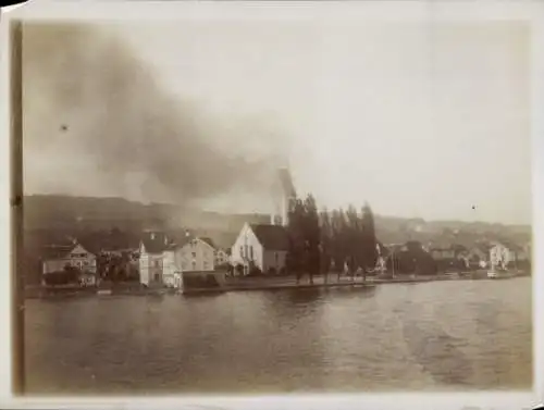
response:
<svg viewBox="0 0 544 410"><path fill-rule="evenodd" d="M251 264L263 273L279 272L285 268L288 247L285 226L246 223L232 247L232 263L245 275Z"/></svg>

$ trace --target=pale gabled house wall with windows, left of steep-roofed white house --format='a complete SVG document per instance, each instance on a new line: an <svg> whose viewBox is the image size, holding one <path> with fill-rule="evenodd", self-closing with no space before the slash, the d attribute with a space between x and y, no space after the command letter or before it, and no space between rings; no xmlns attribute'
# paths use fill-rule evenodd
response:
<svg viewBox="0 0 544 410"><path fill-rule="evenodd" d="M174 263L182 272L212 272L215 249L201 239L193 239L176 250Z"/></svg>

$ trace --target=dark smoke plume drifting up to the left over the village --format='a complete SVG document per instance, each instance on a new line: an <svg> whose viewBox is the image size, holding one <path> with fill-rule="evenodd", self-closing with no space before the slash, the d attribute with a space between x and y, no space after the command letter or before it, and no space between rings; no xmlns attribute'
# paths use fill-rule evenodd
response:
<svg viewBox="0 0 544 410"><path fill-rule="evenodd" d="M190 101L161 89L107 28L24 27L25 190L180 204L233 189L265 195L275 153L248 158L243 146L220 148L236 129L222 129Z"/></svg>

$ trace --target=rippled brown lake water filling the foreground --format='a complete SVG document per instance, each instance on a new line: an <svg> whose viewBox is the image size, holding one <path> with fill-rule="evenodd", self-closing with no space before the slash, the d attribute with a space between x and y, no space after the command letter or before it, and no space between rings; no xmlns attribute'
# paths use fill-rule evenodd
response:
<svg viewBox="0 0 544 410"><path fill-rule="evenodd" d="M29 394L532 386L530 277L26 303Z"/></svg>

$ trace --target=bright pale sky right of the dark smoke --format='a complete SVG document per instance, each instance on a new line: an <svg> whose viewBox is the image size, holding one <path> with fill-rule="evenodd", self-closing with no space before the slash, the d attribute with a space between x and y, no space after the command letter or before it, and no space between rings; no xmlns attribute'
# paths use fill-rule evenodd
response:
<svg viewBox="0 0 544 410"><path fill-rule="evenodd" d="M520 23L184 22L116 32L172 101L190 101L213 122L219 145L288 152L296 187L322 206L368 200L388 215L531 220L530 32ZM59 162L28 152L26 187L42 191L39 175ZM66 181L90 175L82 161L63 170ZM51 184L45 190L70 186ZM106 195L100 183L75 185ZM207 202L265 208L233 190Z"/></svg>

